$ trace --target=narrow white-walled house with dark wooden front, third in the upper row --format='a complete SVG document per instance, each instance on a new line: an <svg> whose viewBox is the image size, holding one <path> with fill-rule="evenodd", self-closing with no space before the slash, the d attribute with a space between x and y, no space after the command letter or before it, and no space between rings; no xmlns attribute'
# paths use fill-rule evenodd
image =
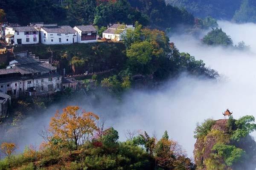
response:
<svg viewBox="0 0 256 170"><path fill-rule="evenodd" d="M78 43L89 43L97 41L97 30L92 25L75 26L74 30L77 31Z"/></svg>

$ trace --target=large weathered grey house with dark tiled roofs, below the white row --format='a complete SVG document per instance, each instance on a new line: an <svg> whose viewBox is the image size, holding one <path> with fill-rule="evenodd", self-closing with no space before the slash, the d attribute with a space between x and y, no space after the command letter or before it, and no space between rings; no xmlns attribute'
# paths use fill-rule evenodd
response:
<svg viewBox="0 0 256 170"><path fill-rule="evenodd" d="M0 69L0 92L17 98L61 91L61 76L56 67L28 54L25 51L15 55L6 69Z"/></svg>

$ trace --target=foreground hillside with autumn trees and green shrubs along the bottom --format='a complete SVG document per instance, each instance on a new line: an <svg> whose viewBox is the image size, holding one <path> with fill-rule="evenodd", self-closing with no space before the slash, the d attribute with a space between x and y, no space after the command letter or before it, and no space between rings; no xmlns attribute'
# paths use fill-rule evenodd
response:
<svg viewBox="0 0 256 170"><path fill-rule="evenodd" d="M15 143L0 145L6 156L0 170L195 170L167 131L157 140L128 130L127 140L120 142L119 133L99 119L78 106L57 111L40 132L45 142L39 150L30 146L15 155Z"/></svg>

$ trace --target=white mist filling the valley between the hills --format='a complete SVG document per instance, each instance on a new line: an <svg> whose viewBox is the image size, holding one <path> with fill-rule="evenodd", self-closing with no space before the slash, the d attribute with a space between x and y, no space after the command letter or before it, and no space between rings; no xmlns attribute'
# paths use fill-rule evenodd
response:
<svg viewBox="0 0 256 170"><path fill-rule="evenodd" d="M107 126L119 131L120 140L125 140L124 130L145 130L160 138L165 130L171 139L179 142L192 157L195 144L193 131L197 122L204 119L223 119L227 108L238 119L244 115L256 116L256 24L235 24L218 21L219 26L231 36L234 44L244 41L250 45L249 51L233 48L205 46L200 38L189 35L173 35L180 52L188 52L196 59L202 59L212 69L218 71L218 80L191 77L186 73L177 79L170 79L160 90L132 91L125 94L122 102L102 96L96 107L91 107L86 99L53 105L36 117L25 119L25 129L15 136L12 131L6 136L18 138L20 150L29 144L40 144L38 131L47 126L57 109L67 105L79 105L86 111L93 111L106 119ZM202 36L207 31L202 32ZM253 133L252 136L256 136ZM12 137L6 138L12 141ZM1 140L1 139L0 139Z"/></svg>

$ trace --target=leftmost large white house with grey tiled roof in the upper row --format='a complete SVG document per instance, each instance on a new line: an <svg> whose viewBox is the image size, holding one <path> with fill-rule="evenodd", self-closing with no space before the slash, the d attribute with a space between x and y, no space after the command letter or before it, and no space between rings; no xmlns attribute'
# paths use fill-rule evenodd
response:
<svg viewBox="0 0 256 170"><path fill-rule="evenodd" d="M6 26L5 40L9 45L38 44L38 30L32 26Z"/></svg>

